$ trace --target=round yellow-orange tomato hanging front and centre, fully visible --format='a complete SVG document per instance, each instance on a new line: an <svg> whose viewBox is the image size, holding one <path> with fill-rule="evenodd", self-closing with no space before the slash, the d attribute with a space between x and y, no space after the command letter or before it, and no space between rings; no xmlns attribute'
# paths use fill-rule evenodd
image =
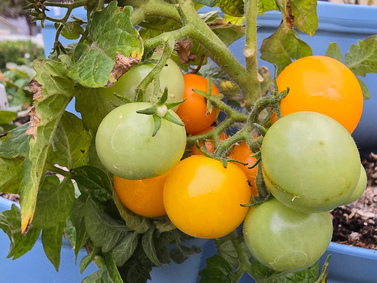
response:
<svg viewBox="0 0 377 283"><path fill-rule="evenodd" d="M248 208L251 190L237 166L193 155L182 160L164 186L164 206L173 224L199 238L222 237L237 228Z"/></svg>

